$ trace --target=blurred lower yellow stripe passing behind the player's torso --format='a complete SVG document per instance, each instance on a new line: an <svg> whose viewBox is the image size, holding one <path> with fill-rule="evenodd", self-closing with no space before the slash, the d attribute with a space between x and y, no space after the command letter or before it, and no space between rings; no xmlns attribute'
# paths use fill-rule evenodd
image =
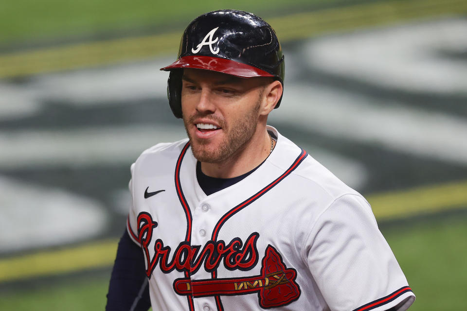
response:
<svg viewBox="0 0 467 311"><path fill-rule="evenodd" d="M467 181L367 196L378 221L467 207ZM0 259L0 282L110 267L118 240Z"/></svg>

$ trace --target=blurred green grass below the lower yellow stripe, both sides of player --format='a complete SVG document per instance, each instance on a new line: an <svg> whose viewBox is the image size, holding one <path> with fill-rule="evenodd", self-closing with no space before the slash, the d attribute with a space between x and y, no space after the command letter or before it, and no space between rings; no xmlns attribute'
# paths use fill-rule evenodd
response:
<svg viewBox="0 0 467 311"><path fill-rule="evenodd" d="M405 221L382 230L417 296L411 311L463 310L467 218ZM0 294L0 310L104 310L109 277Z"/></svg>

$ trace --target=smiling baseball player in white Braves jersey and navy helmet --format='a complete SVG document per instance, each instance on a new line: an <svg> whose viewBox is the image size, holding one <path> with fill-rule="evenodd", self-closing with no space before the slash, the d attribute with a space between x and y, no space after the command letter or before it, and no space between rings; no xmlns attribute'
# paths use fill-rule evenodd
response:
<svg viewBox="0 0 467 311"><path fill-rule="evenodd" d="M284 86L268 23L201 15L162 70L188 138L131 166L107 310L409 308L415 296L368 202L266 124Z"/></svg>

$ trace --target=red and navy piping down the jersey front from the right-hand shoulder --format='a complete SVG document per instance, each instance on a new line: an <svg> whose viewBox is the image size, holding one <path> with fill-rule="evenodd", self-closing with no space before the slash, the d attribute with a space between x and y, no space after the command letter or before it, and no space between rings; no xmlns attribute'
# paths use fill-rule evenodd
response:
<svg viewBox="0 0 467 311"><path fill-rule="evenodd" d="M265 194L266 192L268 192L269 190L271 190L274 186L276 186L280 181L282 181L287 175L289 175L290 173L292 173L293 170L295 170L297 168L297 166L302 163L302 161L305 159L307 153L305 150L302 149L302 152L300 153L300 155L295 159L295 161L292 163L292 165L290 165L290 167L287 169L287 171L285 173L283 173L282 175L280 175L279 177L277 177L273 182L271 182L268 186L264 187L262 190L258 191L256 194L254 194L253 196L251 196L250 198L248 198L247 200L243 201L242 203L240 203L239 205L237 205L236 207L232 208L229 212L227 212L220 220L219 222L217 222L217 225L213 231L213 242L216 242L216 239L217 239L217 234L219 233L219 230L220 228L222 227L222 225L224 225L224 223L227 221L227 219L229 219L230 217L232 217L236 212L238 212L239 210L241 210L242 208L245 208L247 206L249 206L251 203L253 203L255 200L257 200L260 196L262 196L263 194ZM211 273L211 276L213 278L216 278L216 270L214 270L212 273ZM218 311L223 311L224 310L224 307L222 306L222 301L220 300L220 296L219 295L216 295L216 304L217 304L217 310Z"/></svg>

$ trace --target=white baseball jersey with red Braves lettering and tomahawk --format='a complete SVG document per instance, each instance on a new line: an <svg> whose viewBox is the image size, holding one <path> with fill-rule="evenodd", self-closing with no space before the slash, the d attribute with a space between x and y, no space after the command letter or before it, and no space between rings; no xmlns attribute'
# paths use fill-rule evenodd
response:
<svg viewBox="0 0 467 311"><path fill-rule="evenodd" d="M131 166L127 226L153 310L406 310L415 296L368 202L268 130L269 157L211 195L187 139Z"/></svg>

